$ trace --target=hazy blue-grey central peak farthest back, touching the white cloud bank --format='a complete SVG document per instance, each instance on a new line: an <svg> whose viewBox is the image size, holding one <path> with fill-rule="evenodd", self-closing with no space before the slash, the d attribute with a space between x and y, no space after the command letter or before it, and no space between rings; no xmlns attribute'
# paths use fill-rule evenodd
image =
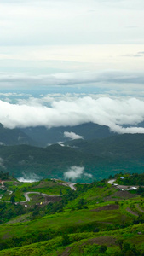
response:
<svg viewBox="0 0 144 256"><path fill-rule="evenodd" d="M46 147L48 144L66 142L70 138L64 136L64 132L74 132L79 136L84 137L85 140L101 139L104 137L110 137L114 133L110 131L106 125L97 125L94 123L86 123L76 126L60 126L47 129L43 126L28 127L21 129L28 137L31 137L33 141L40 147Z"/></svg>

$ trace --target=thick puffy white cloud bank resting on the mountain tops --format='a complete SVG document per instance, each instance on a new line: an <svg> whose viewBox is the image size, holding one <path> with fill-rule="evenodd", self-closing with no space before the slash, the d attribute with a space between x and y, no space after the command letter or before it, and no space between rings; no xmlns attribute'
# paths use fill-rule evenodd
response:
<svg viewBox="0 0 144 256"><path fill-rule="evenodd" d="M144 120L144 101L124 97L77 97L71 101L55 100L50 107L33 102L30 104L10 104L0 101L0 123L5 127L28 127L43 125L48 128L74 126L88 122L107 125L118 133L144 133L144 128L128 127ZM76 137L76 135L68 134Z"/></svg>

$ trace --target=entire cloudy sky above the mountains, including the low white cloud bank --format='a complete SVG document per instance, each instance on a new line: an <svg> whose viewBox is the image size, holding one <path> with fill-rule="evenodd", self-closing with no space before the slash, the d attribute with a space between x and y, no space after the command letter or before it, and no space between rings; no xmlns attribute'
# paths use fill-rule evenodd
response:
<svg viewBox="0 0 144 256"><path fill-rule="evenodd" d="M0 32L3 125L144 132L143 0L0 0Z"/></svg>

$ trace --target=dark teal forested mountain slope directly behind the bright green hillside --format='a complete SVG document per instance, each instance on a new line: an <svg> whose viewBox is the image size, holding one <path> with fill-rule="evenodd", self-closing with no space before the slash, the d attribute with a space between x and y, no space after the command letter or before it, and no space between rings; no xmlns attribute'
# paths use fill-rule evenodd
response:
<svg viewBox="0 0 144 256"><path fill-rule="evenodd" d="M33 174L90 183L118 172L143 172L143 152L143 134L70 140L46 148L1 145L0 166L14 177L32 178Z"/></svg>

